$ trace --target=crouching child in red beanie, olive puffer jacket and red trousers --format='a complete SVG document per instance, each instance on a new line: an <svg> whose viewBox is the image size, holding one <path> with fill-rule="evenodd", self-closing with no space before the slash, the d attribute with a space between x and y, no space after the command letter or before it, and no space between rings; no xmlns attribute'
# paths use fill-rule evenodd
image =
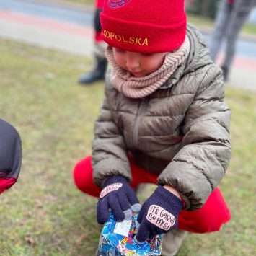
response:
<svg viewBox="0 0 256 256"><path fill-rule="evenodd" d="M140 211L136 241L164 233L175 255L185 231L207 233L229 221L219 182L230 159L230 110L221 70L184 1L105 1L102 37L111 64L90 156L74 169L81 191L100 196L97 221ZM158 187L140 208L132 187ZM171 240L169 240L171 239Z"/></svg>

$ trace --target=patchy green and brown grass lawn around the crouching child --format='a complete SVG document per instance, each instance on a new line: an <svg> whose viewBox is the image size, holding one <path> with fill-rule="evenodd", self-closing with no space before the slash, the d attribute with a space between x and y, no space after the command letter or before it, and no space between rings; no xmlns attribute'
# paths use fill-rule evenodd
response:
<svg viewBox="0 0 256 256"><path fill-rule="evenodd" d="M1 195L1 255L94 255L96 199L72 180L91 151L103 84L81 87L92 60L0 39L1 118L22 137L22 171ZM233 155L221 182L232 220L221 232L189 234L179 255L256 255L256 94L226 89Z"/></svg>

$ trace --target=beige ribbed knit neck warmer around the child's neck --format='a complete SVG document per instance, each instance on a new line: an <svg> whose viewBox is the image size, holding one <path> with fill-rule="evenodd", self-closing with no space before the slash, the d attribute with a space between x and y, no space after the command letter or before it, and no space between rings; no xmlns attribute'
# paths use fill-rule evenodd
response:
<svg viewBox="0 0 256 256"><path fill-rule="evenodd" d="M167 53L163 65L148 76L135 77L130 72L122 69L115 61L112 48L107 47L106 56L112 69L110 82L126 97L141 98L156 91L175 72L178 66L185 61L190 51L190 40L185 37L182 46L175 52Z"/></svg>

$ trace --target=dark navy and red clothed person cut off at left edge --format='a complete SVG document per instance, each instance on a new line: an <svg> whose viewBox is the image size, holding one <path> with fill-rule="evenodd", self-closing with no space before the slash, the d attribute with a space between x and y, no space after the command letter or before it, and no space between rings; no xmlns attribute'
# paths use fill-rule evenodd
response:
<svg viewBox="0 0 256 256"><path fill-rule="evenodd" d="M0 194L12 187L22 164L22 145L19 133L0 119Z"/></svg>

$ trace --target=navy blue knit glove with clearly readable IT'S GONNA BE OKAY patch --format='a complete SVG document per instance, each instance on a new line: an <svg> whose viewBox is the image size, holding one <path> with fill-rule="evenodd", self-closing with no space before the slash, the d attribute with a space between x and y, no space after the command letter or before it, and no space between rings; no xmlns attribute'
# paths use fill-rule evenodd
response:
<svg viewBox="0 0 256 256"><path fill-rule="evenodd" d="M176 195L162 186L157 187L138 213L136 242L176 229L181 209L182 201Z"/></svg>

